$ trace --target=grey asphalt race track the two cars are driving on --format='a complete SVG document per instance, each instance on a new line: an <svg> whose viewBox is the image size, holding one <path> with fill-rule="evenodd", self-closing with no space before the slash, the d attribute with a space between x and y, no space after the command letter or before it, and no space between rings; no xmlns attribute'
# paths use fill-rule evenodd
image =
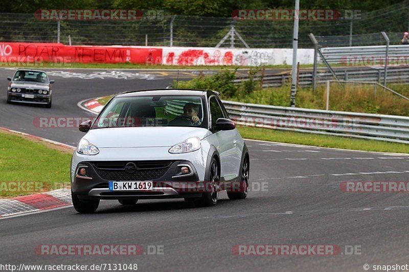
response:
<svg viewBox="0 0 409 272"><path fill-rule="evenodd" d="M57 69L56 69L57 70ZM56 80L51 109L6 104L6 77L0 70L0 127L76 145L76 128L36 128L35 117L90 117L77 107L86 98L166 87L175 77L149 71L145 78L107 78L95 70L64 70L84 75ZM146 73L154 79L147 80ZM188 75L185 75L189 78ZM82 78L81 78L82 77ZM102 79L102 78L103 79ZM139 78L138 78L139 77ZM274 133L274 132L272 132ZM253 190L230 201L225 192L212 208L183 200L146 200L132 207L102 201L95 214L73 207L0 220L1 263L137 263L142 271L365 271L364 264L409 262L407 193L342 192L343 181L408 181L409 154L392 155L247 141ZM24 159L24 158L21 158ZM67 169L68 171L69 169ZM260 189L260 188L263 189ZM163 246L163 255L42 256L39 244L139 244ZM234 245L345 245L360 255L237 256Z"/></svg>

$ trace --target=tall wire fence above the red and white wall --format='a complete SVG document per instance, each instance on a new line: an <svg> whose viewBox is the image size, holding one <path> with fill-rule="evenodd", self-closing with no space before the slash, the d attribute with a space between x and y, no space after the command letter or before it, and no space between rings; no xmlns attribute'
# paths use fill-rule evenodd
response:
<svg viewBox="0 0 409 272"><path fill-rule="evenodd" d="M299 47L312 47L314 33L321 46L380 45L380 31L399 44L409 28L409 0L382 10L361 13L355 20L302 20ZM34 14L0 13L0 41L57 42L73 45L216 46L232 29L252 48L292 47L291 20L235 20L164 15L134 21L38 20ZM59 28L58 28L59 25ZM59 31L58 31L59 29ZM372 34L367 34L372 33ZM58 35L59 34L59 35ZM231 35L220 47L245 47Z"/></svg>

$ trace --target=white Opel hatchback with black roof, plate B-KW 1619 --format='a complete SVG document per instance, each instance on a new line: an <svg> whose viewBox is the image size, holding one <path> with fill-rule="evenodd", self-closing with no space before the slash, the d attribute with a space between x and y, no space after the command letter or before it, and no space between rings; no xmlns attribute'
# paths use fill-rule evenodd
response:
<svg viewBox="0 0 409 272"><path fill-rule="evenodd" d="M184 198L214 206L248 192L249 155L218 93L145 90L118 94L93 120L71 162L74 208L94 212L100 200Z"/></svg>

